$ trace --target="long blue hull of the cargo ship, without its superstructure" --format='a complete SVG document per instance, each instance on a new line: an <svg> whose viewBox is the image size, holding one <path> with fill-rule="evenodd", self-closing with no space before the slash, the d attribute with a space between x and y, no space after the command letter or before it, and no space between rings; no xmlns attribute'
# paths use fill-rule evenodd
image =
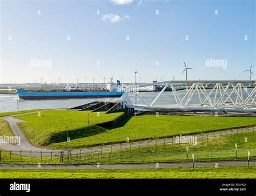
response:
<svg viewBox="0 0 256 196"><path fill-rule="evenodd" d="M38 99L79 99L79 98L102 98L102 97L118 97L124 92L110 91L26 91L24 89L16 89L19 99L38 100Z"/></svg>

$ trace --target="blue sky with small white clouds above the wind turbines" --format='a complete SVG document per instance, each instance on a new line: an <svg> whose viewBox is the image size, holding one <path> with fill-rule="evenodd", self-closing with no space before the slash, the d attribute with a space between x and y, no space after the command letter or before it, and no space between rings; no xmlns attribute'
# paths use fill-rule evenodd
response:
<svg viewBox="0 0 256 196"><path fill-rule="evenodd" d="M256 75L255 1L0 1L0 83Z"/></svg>

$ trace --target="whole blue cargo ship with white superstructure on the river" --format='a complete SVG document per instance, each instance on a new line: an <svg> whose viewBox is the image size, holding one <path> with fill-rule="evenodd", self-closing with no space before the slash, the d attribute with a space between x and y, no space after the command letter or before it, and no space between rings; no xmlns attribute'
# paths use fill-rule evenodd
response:
<svg viewBox="0 0 256 196"><path fill-rule="evenodd" d="M87 87L87 88L86 88ZM19 99L39 100L39 99L79 99L79 98L103 98L119 97L123 95L123 90L118 81L117 84L111 84L110 88L100 87L97 85L80 86L79 88L65 87L63 89L16 89Z"/></svg>

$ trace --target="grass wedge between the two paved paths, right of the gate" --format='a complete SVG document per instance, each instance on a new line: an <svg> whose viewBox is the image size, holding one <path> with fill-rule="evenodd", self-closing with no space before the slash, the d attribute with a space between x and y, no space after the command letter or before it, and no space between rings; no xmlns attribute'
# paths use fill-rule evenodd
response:
<svg viewBox="0 0 256 196"><path fill-rule="evenodd" d="M161 163L161 162L192 162L206 160L247 160L248 151L250 159L256 159L256 133L253 132L197 138L197 145L192 143L165 143L139 148L103 151L88 153L82 156L73 155L72 163ZM237 143L237 153L235 152ZM188 146L188 153L186 152ZM237 154L237 155L236 155ZM64 158L66 161L66 157Z"/></svg>

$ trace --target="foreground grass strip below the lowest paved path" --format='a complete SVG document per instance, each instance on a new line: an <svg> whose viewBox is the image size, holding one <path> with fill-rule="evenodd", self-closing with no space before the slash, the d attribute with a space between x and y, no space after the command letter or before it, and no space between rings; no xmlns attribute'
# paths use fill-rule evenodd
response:
<svg viewBox="0 0 256 196"><path fill-rule="evenodd" d="M1 169L0 178L256 178L256 166L168 169L14 170Z"/></svg>

